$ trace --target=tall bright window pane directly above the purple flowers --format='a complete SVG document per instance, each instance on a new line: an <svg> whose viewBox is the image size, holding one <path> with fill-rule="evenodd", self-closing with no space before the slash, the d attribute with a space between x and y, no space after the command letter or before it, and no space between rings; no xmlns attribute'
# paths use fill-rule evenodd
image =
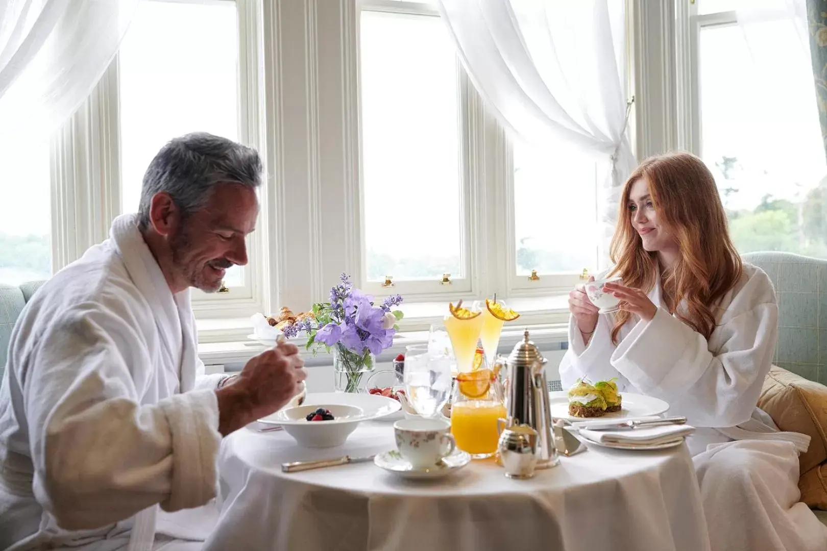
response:
<svg viewBox="0 0 827 551"><path fill-rule="evenodd" d="M361 136L369 282L466 276L457 56L432 7L361 12ZM410 287L409 287L410 288Z"/></svg>

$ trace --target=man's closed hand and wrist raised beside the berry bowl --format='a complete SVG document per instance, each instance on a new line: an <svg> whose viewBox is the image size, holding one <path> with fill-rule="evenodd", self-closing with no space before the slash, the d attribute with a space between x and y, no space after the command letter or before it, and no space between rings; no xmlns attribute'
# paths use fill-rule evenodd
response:
<svg viewBox="0 0 827 551"><path fill-rule="evenodd" d="M294 344L279 344L246 363L241 373L216 391L218 431L232 431L284 407L307 378L304 359Z"/></svg>

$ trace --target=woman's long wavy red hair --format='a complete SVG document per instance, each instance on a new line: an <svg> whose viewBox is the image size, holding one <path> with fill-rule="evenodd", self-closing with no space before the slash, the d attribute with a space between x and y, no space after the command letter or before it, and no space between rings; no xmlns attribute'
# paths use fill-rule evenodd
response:
<svg viewBox="0 0 827 551"><path fill-rule="evenodd" d="M626 181L610 249L614 264L610 275L619 275L624 285L647 293L657 285L657 253L643 249L629 209L629 193L640 178L649 184L658 223L675 238L680 251L663 287L673 297L672 305L686 306L676 316L709 339L715 330L712 307L738 283L743 269L729 239L715 178L695 155L671 153L644 160ZM614 344L629 316L621 310L614 317Z"/></svg>

